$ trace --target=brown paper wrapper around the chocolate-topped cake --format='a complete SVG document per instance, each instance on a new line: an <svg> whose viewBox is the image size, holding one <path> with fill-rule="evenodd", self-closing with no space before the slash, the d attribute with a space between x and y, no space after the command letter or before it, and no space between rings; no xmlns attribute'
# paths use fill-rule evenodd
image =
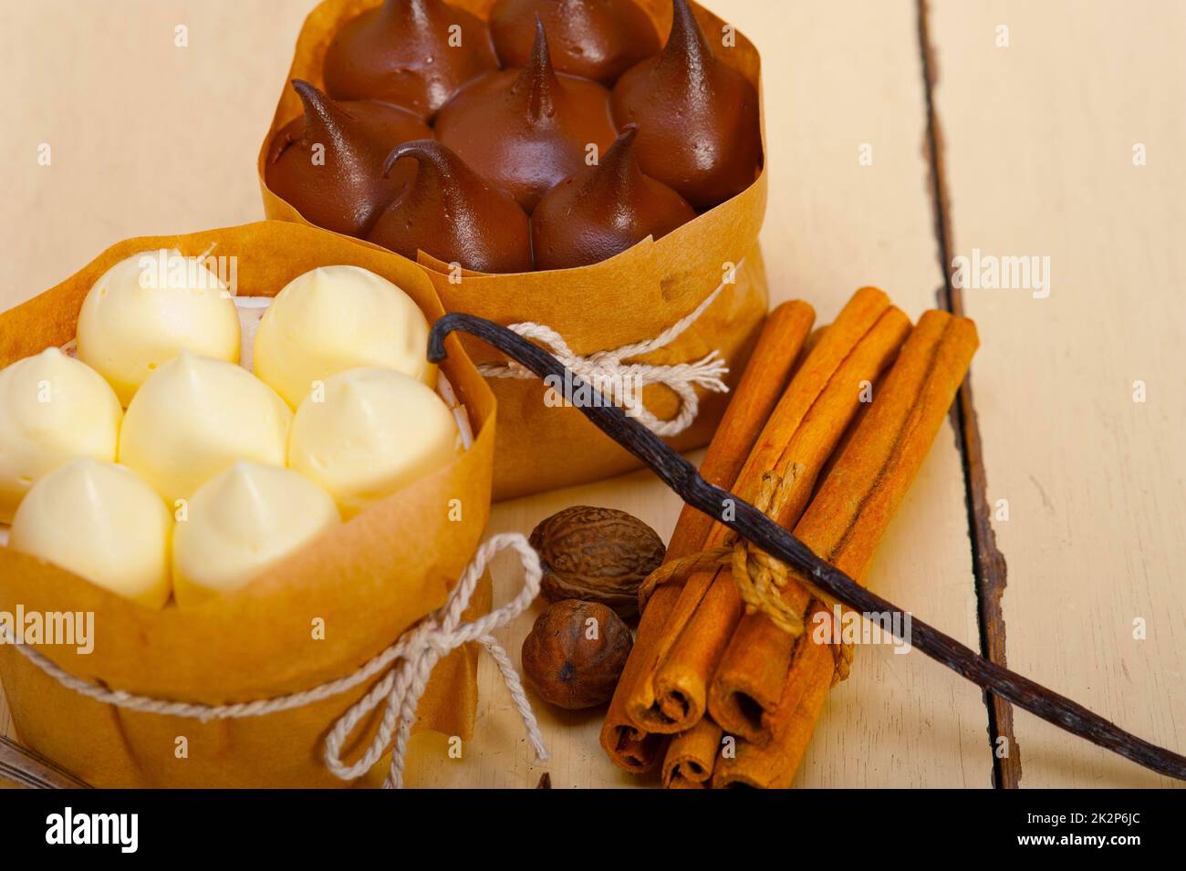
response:
<svg viewBox="0 0 1186 871"><path fill-rule="evenodd" d="M489 17L493 0L451 0L479 17ZM324 87L321 68L333 36L344 23L380 0L325 0L310 13L296 39L288 78L280 95L268 135L260 147L257 171L263 209L269 218L308 222L268 190L263 161L276 130L301 114L300 100L288 85L293 78ZM639 0L658 32L671 26L669 0ZM709 36L725 23L696 4L696 18ZM721 57L754 87L760 87L760 59L753 44L735 33L735 46ZM763 126L765 143L765 124ZM758 249L758 231L766 211L766 169L733 199L684 224L657 242L646 238L617 257L578 269L482 275L460 270L420 254L446 310L468 312L498 324L534 321L559 332L574 353L610 351L651 339L693 312L726 277L725 264L739 268L716 301L678 339L639 358L671 364L697 360L720 351L729 366L727 383L737 383L757 340L766 313L766 274ZM376 248L368 242L358 244ZM395 254L391 257L404 260ZM465 347L478 363L503 361L476 341ZM608 478L640 463L608 440L574 408L544 404L546 388L537 380L490 379L503 409L495 447L495 499L566 487ZM659 418L676 414L678 403L667 388L643 391L646 406ZM687 430L668 440L676 449L702 447L712 437L728 403L720 393L701 392L700 414Z"/></svg>

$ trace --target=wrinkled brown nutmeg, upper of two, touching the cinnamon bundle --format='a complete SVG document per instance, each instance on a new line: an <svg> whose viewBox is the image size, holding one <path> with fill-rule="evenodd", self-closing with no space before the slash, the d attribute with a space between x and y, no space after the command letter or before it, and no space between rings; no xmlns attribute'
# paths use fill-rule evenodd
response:
<svg viewBox="0 0 1186 871"><path fill-rule="evenodd" d="M637 517L588 505L542 520L530 540L543 563L544 598L600 602L624 620L638 616L638 585L667 552L663 539Z"/></svg>

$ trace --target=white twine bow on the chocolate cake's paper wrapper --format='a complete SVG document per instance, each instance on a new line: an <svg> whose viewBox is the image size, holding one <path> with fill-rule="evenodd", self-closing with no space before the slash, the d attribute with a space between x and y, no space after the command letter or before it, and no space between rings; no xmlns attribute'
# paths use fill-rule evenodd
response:
<svg viewBox="0 0 1186 871"><path fill-rule="evenodd" d="M740 268L741 263L738 263L734 273ZM683 433L696 420L700 411L700 397L696 396L696 388L716 393L728 392L728 385L722 378L728 374L729 370L725 365L720 351L713 351L695 363L676 363L667 366L649 363L624 363L624 360L631 357L642 357L675 341L713 305L725 289L726 283L722 281L718 284L716 289L704 297L704 301L696 306L690 314L677 320L653 339L623 345L612 351L597 351L588 357L573 353L565 338L544 324L524 321L511 324L508 329L518 333L524 339L538 341L566 369L575 372L581 380L595 388L606 399L624 409L631 417L637 418L655 435L674 436ZM478 366L478 371L487 378L535 378L530 370L515 360L484 363ZM661 421L643 404L643 388L650 384L663 384L680 398L680 409L675 417Z"/></svg>

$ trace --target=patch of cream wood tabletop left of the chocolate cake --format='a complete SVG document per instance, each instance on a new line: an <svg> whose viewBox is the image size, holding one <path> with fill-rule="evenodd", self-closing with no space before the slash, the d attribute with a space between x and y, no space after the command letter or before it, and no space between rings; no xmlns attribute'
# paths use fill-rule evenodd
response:
<svg viewBox="0 0 1186 871"><path fill-rule="evenodd" d="M0 307L130 236L263 217L255 156L314 0L0 6ZM176 28L185 27L187 47ZM38 165L42 143L52 164Z"/></svg>

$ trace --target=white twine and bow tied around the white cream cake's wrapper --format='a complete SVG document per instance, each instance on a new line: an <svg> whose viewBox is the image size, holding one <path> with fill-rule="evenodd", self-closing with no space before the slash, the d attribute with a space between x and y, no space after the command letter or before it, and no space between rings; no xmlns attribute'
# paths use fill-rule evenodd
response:
<svg viewBox="0 0 1186 871"><path fill-rule="evenodd" d="M468 607L470 598L473 596L487 563L498 551L506 547L515 550L523 564L523 588L512 601L498 610L491 611L472 623L463 623L461 613ZM383 787L400 789L403 787L403 763L408 749L408 736L416 718L416 705L428 684L428 677L444 657L470 641L477 641L493 658L503 680L506 683L506 689L511 693L511 700L515 703L519 717L523 718L523 726L527 730L528 741L535 749L536 757L541 762L549 758L548 750L543 745L540 724L531 710L531 703L523 691L518 673L515 671L510 657L506 655L506 651L490 635L492 630L506 626L528 609L540 593L542 574L540 556L528 544L524 536L517 532L495 536L478 547L478 552L470 561L461 579L449 593L444 606L403 633L394 645L370 659L353 674L331 680L312 690L259 702L198 705L135 696L122 690L108 690L70 674L28 645L17 645L15 647L43 672L81 696L130 711L187 717L203 723L215 719L262 717L279 711L304 707L313 702L338 696L358 686L400 660L398 665L391 667L382 680L338 718L326 736L324 754L325 764L334 775L343 780L355 780L370 770L371 766L383 757L394 735L391 768L387 780L383 781ZM345 764L342 761L343 742L383 699L387 699L387 710L374 741L358 762L352 766Z"/></svg>

